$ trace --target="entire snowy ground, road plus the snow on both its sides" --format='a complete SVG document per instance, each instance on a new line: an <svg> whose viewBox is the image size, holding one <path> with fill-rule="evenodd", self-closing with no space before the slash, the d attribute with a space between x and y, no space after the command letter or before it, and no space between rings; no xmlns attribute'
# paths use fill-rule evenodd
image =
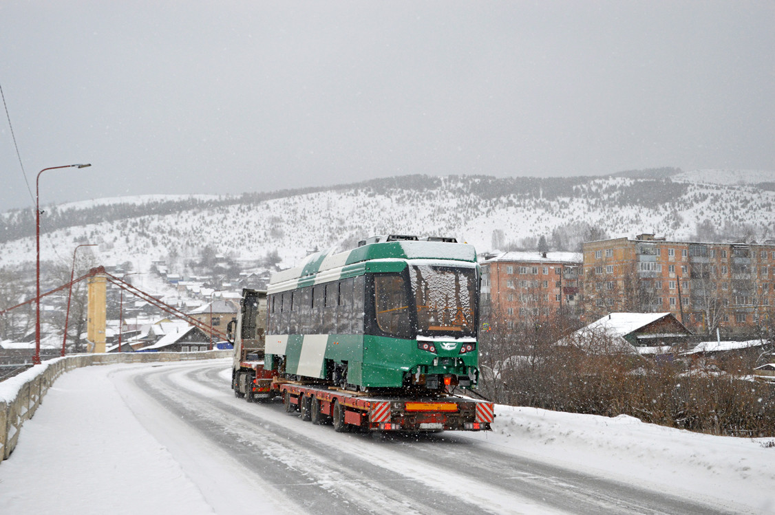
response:
<svg viewBox="0 0 775 515"><path fill-rule="evenodd" d="M229 390L229 360L64 374L0 513L775 513L766 439L498 406L495 431L339 434Z"/></svg>

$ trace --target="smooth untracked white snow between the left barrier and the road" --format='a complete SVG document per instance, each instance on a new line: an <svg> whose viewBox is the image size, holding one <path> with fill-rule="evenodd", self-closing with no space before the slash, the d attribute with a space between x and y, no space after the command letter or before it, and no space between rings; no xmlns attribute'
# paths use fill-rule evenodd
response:
<svg viewBox="0 0 775 515"><path fill-rule="evenodd" d="M0 513L214 513L108 379L119 366L57 379L0 464Z"/></svg>

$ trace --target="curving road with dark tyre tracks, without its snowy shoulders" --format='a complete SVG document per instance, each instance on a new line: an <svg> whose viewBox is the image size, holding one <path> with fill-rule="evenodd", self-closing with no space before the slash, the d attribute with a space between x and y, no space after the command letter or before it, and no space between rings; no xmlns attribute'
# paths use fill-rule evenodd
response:
<svg viewBox="0 0 775 515"><path fill-rule="evenodd" d="M279 403L236 399L223 371L199 362L113 376L218 513L236 500L288 513L729 513L465 434L336 434Z"/></svg>

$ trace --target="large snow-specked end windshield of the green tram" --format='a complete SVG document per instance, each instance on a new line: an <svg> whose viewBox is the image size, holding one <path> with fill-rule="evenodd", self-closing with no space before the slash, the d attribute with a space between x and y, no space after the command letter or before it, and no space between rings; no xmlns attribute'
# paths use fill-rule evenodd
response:
<svg viewBox="0 0 775 515"><path fill-rule="evenodd" d="M476 335L477 276L473 268L410 266L420 335Z"/></svg>

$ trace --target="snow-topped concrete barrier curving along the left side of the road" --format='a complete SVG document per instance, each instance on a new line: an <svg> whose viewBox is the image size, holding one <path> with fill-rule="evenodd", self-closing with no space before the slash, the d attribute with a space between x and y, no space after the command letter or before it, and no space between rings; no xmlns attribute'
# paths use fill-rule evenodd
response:
<svg viewBox="0 0 775 515"><path fill-rule="evenodd" d="M0 463L8 459L16 447L24 421L33 417L48 389L65 372L81 366L189 361L231 355L231 350L71 355L43 362L43 365L6 379L0 383Z"/></svg>

